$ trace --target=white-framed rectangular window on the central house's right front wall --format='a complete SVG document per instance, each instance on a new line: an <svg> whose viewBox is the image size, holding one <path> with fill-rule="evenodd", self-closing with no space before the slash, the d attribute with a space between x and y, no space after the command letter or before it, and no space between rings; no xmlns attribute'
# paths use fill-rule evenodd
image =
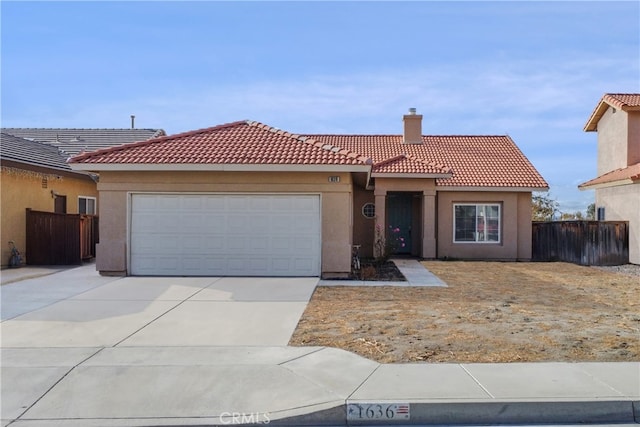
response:
<svg viewBox="0 0 640 427"><path fill-rule="evenodd" d="M453 241L456 243L499 243L500 204L460 203L453 206Z"/></svg>

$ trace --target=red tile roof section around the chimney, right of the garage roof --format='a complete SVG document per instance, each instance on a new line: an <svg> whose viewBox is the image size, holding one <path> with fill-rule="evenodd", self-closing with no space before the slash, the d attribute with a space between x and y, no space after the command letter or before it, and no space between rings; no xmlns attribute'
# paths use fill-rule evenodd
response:
<svg viewBox="0 0 640 427"><path fill-rule="evenodd" d="M404 144L400 135L310 136L371 157L374 176L377 173L425 172L415 167L416 162L405 162L402 169L388 170L388 159L406 156L431 165L431 173L451 172L451 178L437 179L437 185L441 186L548 187L508 136L423 136L422 144Z"/></svg>

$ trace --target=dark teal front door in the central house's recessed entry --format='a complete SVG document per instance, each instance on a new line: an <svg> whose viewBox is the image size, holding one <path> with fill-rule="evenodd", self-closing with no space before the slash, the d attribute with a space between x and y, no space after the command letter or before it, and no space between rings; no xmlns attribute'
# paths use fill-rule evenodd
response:
<svg viewBox="0 0 640 427"><path fill-rule="evenodd" d="M394 254L411 254L413 195L387 193L387 243Z"/></svg>

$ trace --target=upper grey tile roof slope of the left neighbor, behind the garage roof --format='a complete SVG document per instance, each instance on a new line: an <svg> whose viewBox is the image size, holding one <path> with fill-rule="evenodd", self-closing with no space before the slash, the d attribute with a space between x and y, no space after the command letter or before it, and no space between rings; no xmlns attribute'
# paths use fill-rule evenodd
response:
<svg viewBox="0 0 640 427"><path fill-rule="evenodd" d="M3 128L2 132L54 145L70 156L165 135L162 129Z"/></svg>

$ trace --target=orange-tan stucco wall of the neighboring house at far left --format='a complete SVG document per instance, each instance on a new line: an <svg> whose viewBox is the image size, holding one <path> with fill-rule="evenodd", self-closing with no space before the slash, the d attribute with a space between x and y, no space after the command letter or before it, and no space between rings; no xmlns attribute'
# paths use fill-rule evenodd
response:
<svg viewBox="0 0 640 427"><path fill-rule="evenodd" d="M78 197L97 199L96 183L77 173L29 167L15 162L2 163L2 267L9 264L8 242L15 242L23 262L26 253L26 209L54 212L55 195L67 197L67 213L78 213Z"/></svg>

